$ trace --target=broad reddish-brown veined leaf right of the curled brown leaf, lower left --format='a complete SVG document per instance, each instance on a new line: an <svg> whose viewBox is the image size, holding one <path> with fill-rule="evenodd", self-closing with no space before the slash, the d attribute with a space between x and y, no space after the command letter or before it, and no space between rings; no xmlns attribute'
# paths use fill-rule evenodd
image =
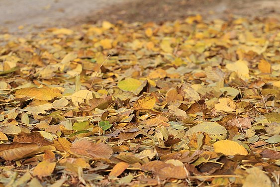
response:
<svg viewBox="0 0 280 187"><path fill-rule="evenodd" d="M95 144L87 140L74 143L70 151L74 154L87 156L90 158L106 158L109 159L113 153L112 149L106 144Z"/></svg>

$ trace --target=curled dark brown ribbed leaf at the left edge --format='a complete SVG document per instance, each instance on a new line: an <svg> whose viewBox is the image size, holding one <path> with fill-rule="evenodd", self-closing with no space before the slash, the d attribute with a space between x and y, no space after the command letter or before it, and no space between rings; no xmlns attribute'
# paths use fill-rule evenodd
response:
<svg viewBox="0 0 280 187"><path fill-rule="evenodd" d="M39 146L35 143L0 144L0 157L6 161L18 160L36 151Z"/></svg>

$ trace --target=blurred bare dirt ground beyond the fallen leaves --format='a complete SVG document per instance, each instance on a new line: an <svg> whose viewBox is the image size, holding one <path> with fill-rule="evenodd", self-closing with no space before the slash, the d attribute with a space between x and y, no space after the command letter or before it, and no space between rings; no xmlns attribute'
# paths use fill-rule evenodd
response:
<svg viewBox="0 0 280 187"><path fill-rule="evenodd" d="M0 0L0 32L26 33L100 20L175 20L190 14L280 18L280 0Z"/></svg>

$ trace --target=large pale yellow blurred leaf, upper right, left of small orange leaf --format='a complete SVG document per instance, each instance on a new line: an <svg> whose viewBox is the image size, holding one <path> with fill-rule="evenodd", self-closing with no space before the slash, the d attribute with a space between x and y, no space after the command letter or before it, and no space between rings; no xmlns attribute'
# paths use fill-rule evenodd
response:
<svg viewBox="0 0 280 187"><path fill-rule="evenodd" d="M249 79L249 68L247 66L247 61L238 60L235 63L226 64L226 68L230 71L235 71L240 76L241 79Z"/></svg>

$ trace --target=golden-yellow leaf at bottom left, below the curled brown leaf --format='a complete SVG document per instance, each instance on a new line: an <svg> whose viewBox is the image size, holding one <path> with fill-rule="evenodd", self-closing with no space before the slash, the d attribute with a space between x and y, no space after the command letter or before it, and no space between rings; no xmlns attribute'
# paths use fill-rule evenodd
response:
<svg viewBox="0 0 280 187"><path fill-rule="evenodd" d="M38 176L39 178L50 176L53 173L55 166L56 163L42 161L34 168L33 175Z"/></svg>

